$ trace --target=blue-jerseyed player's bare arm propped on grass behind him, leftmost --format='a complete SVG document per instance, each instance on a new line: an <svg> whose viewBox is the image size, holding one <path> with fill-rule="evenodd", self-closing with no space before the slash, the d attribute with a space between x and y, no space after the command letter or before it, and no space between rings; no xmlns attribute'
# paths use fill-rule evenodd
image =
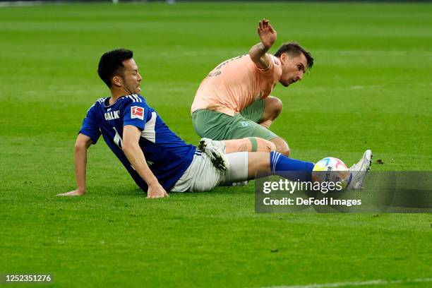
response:
<svg viewBox="0 0 432 288"><path fill-rule="evenodd" d="M57 196L83 196L85 194L85 171L87 168L87 150L92 145L92 139L84 134L78 134L73 150L75 166L76 190L61 193Z"/></svg>

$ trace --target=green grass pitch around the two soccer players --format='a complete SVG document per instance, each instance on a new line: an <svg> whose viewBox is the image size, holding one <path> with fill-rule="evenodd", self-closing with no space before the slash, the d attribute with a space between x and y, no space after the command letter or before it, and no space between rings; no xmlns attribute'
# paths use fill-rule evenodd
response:
<svg viewBox="0 0 432 288"><path fill-rule="evenodd" d="M0 274L50 273L53 287L431 287L430 214L256 214L253 181L147 200L102 140L88 194L55 197L75 188L76 133L108 95L103 52L133 49L150 106L196 143L200 80L258 42L260 18L278 33L271 52L294 40L316 58L272 93L284 103L272 130L292 157L351 165L371 148L375 171L431 170L431 15L429 4L0 8Z"/></svg>

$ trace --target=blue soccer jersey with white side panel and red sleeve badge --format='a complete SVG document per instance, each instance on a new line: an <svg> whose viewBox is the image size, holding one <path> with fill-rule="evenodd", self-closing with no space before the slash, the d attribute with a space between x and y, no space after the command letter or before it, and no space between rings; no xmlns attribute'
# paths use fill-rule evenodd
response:
<svg viewBox="0 0 432 288"><path fill-rule="evenodd" d="M109 105L109 97L98 99L88 110L80 133L90 137L93 144L102 134L136 184L147 191L147 184L121 150L123 127L126 125L140 129L139 145L145 160L159 183L169 191L188 169L196 147L176 136L142 96L123 96L112 105Z"/></svg>

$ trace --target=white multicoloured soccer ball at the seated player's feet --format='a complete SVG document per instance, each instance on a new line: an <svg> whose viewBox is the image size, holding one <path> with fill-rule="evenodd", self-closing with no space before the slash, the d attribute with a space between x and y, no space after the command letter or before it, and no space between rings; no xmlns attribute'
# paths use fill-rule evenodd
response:
<svg viewBox="0 0 432 288"><path fill-rule="evenodd" d="M344 162L335 157L326 157L313 166L312 181L320 183L340 182L340 186L345 188L350 175L351 172Z"/></svg>

